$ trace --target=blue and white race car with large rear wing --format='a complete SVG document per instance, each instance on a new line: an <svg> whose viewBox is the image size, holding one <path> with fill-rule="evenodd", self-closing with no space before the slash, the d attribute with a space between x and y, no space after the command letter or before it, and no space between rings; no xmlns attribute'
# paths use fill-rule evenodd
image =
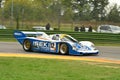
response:
<svg viewBox="0 0 120 80"><path fill-rule="evenodd" d="M77 41L67 34L47 35L45 32L14 31L14 37L25 51L55 54L98 54L99 50L90 41Z"/></svg>

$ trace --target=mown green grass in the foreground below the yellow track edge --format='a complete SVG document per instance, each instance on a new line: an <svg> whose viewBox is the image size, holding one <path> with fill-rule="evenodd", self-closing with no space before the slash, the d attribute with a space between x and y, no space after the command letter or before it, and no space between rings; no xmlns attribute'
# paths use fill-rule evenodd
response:
<svg viewBox="0 0 120 80"><path fill-rule="evenodd" d="M120 65L0 57L0 80L120 80Z"/></svg>

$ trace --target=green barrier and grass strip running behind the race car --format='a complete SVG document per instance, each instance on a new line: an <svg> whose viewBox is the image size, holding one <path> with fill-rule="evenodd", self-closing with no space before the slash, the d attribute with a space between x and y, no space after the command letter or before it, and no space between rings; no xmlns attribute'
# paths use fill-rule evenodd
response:
<svg viewBox="0 0 120 80"><path fill-rule="evenodd" d="M31 30L32 31L32 30ZM13 37L14 30L0 30L0 41L16 41ZM78 41L92 41L97 45L120 46L120 34L84 33L72 31L44 31L47 34L64 33L76 38Z"/></svg>

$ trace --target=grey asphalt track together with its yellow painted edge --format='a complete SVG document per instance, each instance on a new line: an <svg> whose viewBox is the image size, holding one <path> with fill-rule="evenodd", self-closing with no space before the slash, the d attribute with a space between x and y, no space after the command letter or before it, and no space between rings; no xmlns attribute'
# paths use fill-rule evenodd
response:
<svg viewBox="0 0 120 80"><path fill-rule="evenodd" d="M17 42L0 42L0 56L87 60L120 64L120 47L97 46L97 48L100 51L98 56L64 56L51 53L25 52Z"/></svg>

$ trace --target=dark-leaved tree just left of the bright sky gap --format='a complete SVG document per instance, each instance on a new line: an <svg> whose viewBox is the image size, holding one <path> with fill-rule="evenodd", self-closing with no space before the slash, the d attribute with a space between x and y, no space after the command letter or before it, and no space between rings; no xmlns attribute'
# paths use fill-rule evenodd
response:
<svg viewBox="0 0 120 80"><path fill-rule="evenodd" d="M95 20L103 20L105 18L105 7L109 4L108 0L89 0L91 8L91 16Z"/></svg>

